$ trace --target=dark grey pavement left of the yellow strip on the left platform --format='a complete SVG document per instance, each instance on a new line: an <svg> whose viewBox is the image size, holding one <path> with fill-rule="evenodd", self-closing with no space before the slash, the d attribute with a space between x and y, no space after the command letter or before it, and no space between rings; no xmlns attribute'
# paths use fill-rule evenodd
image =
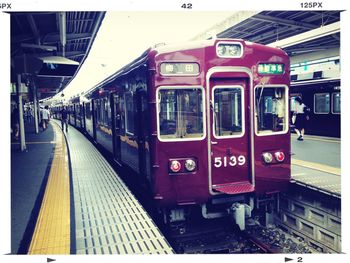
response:
<svg viewBox="0 0 350 263"><path fill-rule="evenodd" d="M34 122L25 123L27 151L11 142L11 253L24 254L30 243L55 149L52 124L35 133Z"/></svg>

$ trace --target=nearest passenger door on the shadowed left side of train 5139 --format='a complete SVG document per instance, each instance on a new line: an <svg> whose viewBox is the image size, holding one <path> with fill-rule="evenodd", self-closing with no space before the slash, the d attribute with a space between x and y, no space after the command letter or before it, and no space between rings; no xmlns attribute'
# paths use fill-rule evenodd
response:
<svg viewBox="0 0 350 263"><path fill-rule="evenodd" d="M117 161L121 160L121 141L120 136L122 135L122 116L123 116L123 99L119 93L113 93L111 97L112 105L112 126L113 126L113 154L114 159Z"/></svg>

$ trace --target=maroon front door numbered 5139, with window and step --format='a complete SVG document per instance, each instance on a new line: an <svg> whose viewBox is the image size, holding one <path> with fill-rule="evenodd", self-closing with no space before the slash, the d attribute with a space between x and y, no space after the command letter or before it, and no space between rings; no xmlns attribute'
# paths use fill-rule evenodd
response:
<svg viewBox="0 0 350 263"><path fill-rule="evenodd" d="M250 162L248 78L210 78L209 176L211 190L254 191Z"/></svg>

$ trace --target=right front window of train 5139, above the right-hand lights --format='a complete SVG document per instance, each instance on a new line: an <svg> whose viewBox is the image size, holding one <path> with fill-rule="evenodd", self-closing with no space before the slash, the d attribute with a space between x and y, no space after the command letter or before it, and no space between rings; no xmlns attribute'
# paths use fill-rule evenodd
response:
<svg viewBox="0 0 350 263"><path fill-rule="evenodd" d="M288 131L288 96L285 86L259 86L255 89L256 134L270 135Z"/></svg>

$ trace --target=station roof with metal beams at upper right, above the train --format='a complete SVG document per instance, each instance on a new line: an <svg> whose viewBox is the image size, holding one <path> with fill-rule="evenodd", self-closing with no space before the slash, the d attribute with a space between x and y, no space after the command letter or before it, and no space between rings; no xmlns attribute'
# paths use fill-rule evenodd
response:
<svg viewBox="0 0 350 263"><path fill-rule="evenodd" d="M267 45L339 21L340 11L237 12L194 39L203 38L206 34L211 33L216 34L219 38L241 38ZM288 55L293 56L339 47L339 45L340 33L338 32L283 49Z"/></svg>

